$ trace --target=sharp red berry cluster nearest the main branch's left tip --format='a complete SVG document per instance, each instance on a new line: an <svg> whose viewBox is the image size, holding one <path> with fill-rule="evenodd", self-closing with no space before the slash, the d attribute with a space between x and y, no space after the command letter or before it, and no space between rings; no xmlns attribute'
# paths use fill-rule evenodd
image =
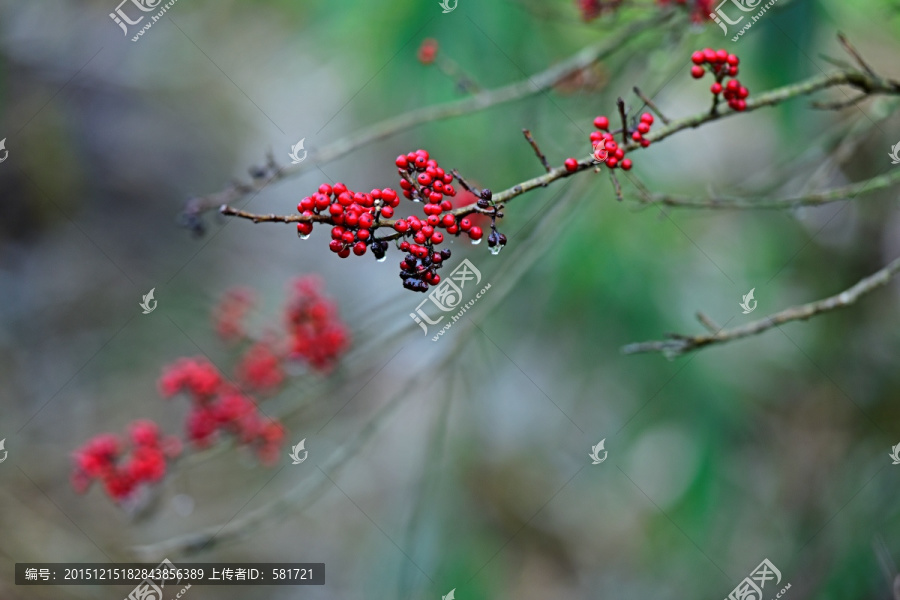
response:
<svg viewBox="0 0 900 600"><path fill-rule="evenodd" d="M362 256L371 247L375 258L384 258L388 244L372 236L372 228L381 217L390 219L394 209L400 204L397 192L390 188L374 189L368 194L354 192L343 183L332 187L327 183L319 186L319 191L307 196L297 204L301 215L312 217L326 214L331 228L331 243L328 247L341 258L350 252ZM311 221L297 223L297 233L306 239L312 233Z"/></svg>

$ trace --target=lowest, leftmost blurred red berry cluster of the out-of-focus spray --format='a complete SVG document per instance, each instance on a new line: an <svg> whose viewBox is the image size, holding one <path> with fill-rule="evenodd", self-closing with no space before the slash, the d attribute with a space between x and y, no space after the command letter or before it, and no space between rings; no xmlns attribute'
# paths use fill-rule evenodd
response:
<svg viewBox="0 0 900 600"><path fill-rule="evenodd" d="M141 485L155 483L166 474L166 460L181 453L177 438L161 439L153 421L135 421L129 427L130 455L118 436L102 433L73 454L72 487L84 493L95 480L103 483L115 501L130 497Z"/></svg>

